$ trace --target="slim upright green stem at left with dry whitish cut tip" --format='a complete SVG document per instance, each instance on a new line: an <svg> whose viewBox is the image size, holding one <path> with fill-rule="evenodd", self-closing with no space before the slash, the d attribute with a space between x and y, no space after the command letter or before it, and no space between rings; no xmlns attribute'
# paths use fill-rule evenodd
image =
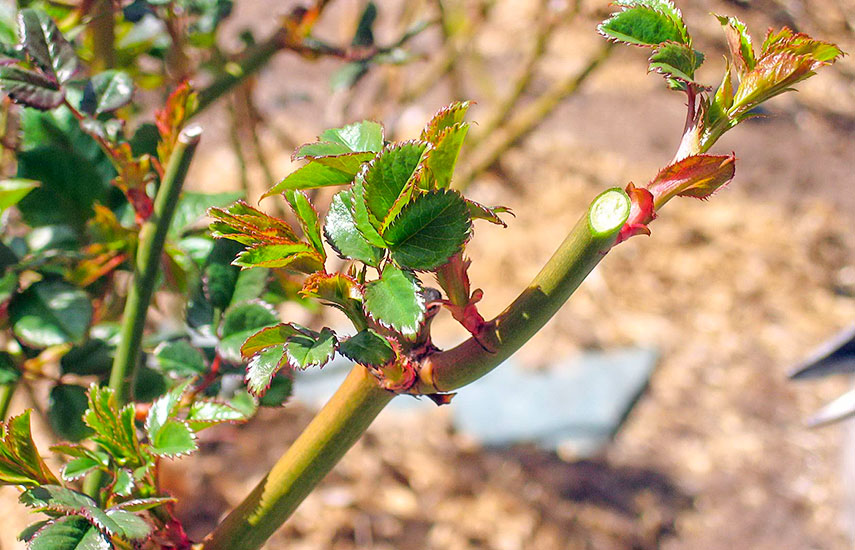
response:
<svg viewBox="0 0 855 550"><path fill-rule="evenodd" d="M121 403L127 401L130 395L142 347L146 312L160 271L166 233L201 135L201 128L194 126L183 130L178 136L154 199L154 212L140 229L134 276L122 316L121 340L110 371L110 387L116 391Z"/></svg>

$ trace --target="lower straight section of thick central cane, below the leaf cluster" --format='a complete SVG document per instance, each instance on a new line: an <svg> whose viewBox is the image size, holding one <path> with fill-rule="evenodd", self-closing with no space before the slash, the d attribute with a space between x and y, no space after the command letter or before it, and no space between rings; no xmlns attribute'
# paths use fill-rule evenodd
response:
<svg viewBox="0 0 855 550"><path fill-rule="evenodd" d="M270 473L208 535L202 548L260 548L394 396L381 389L364 367L356 365Z"/></svg>

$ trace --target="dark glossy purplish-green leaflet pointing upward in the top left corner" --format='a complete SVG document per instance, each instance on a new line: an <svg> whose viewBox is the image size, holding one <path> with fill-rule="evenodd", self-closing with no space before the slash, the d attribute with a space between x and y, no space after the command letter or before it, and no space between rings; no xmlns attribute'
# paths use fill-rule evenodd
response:
<svg viewBox="0 0 855 550"><path fill-rule="evenodd" d="M62 36L47 13L35 9L21 10L18 13L18 33L30 58L60 84L71 80L80 71L74 47Z"/></svg>

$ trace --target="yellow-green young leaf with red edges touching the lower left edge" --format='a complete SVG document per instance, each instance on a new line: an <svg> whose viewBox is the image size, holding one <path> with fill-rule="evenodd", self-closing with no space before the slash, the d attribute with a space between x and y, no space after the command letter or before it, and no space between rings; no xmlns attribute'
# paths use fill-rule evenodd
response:
<svg viewBox="0 0 855 550"><path fill-rule="evenodd" d="M0 484L37 486L59 483L33 442L30 412L27 410L0 424Z"/></svg>

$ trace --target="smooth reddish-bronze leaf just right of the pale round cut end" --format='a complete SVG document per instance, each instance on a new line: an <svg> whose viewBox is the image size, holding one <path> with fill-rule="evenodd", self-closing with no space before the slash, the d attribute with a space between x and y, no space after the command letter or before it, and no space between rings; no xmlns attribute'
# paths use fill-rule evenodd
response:
<svg viewBox="0 0 855 550"><path fill-rule="evenodd" d="M673 197L705 199L732 180L735 170L733 155L695 155L663 168L647 189L657 209Z"/></svg>

